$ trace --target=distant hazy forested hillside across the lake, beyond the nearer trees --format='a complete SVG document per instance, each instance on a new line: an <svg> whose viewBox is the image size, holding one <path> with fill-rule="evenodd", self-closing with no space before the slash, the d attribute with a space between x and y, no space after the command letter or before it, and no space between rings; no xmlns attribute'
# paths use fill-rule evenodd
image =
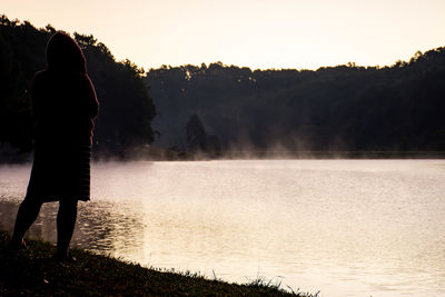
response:
<svg viewBox="0 0 445 297"><path fill-rule="evenodd" d="M383 68L164 66L146 82L164 147L189 147L197 115L222 150L445 150L445 48Z"/></svg>

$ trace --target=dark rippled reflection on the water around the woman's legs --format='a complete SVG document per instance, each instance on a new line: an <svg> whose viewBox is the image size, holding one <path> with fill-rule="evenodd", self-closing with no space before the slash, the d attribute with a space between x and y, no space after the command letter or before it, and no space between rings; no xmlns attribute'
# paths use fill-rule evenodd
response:
<svg viewBox="0 0 445 297"><path fill-rule="evenodd" d="M20 201L0 200L0 229L12 232ZM112 202L79 202L79 215L71 246L82 247L102 255L140 260L145 226L141 214ZM27 236L56 242L58 204L44 204L41 214Z"/></svg>

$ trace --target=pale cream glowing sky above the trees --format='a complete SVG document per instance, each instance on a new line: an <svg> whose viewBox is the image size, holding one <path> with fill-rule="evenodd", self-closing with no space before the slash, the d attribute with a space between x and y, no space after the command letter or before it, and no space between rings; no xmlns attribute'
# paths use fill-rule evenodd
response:
<svg viewBox="0 0 445 297"><path fill-rule="evenodd" d="M93 34L146 70L385 66L445 47L445 0L1 0L0 13Z"/></svg>

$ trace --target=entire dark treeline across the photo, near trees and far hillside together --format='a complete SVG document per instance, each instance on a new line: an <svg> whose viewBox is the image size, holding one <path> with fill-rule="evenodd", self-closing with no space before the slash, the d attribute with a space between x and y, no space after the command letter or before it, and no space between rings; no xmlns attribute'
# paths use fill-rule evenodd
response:
<svg viewBox="0 0 445 297"><path fill-rule="evenodd" d="M32 149L27 90L33 73L46 67L44 49L55 31L0 17L0 152L6 145ZM129 60L116 61L92 36L73 38L100 100L99 156L144 150L155 136L157 147L210 156L229 150L445 151L445 48L383 68L348 63L316 71L253 71L216 62L146 73Z"/></svg>

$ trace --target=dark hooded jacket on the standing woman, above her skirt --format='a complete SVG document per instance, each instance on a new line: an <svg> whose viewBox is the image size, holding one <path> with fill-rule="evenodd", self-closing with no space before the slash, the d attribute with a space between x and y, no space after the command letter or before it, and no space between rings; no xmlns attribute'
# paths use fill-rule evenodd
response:
<svg viewBox="0 0 445 297"><path fill-rule="evenodd" d="M80 47L68 34L55 33L47 44L47 68L31 85L36 147L92 143L99 103Z"/></svg>

